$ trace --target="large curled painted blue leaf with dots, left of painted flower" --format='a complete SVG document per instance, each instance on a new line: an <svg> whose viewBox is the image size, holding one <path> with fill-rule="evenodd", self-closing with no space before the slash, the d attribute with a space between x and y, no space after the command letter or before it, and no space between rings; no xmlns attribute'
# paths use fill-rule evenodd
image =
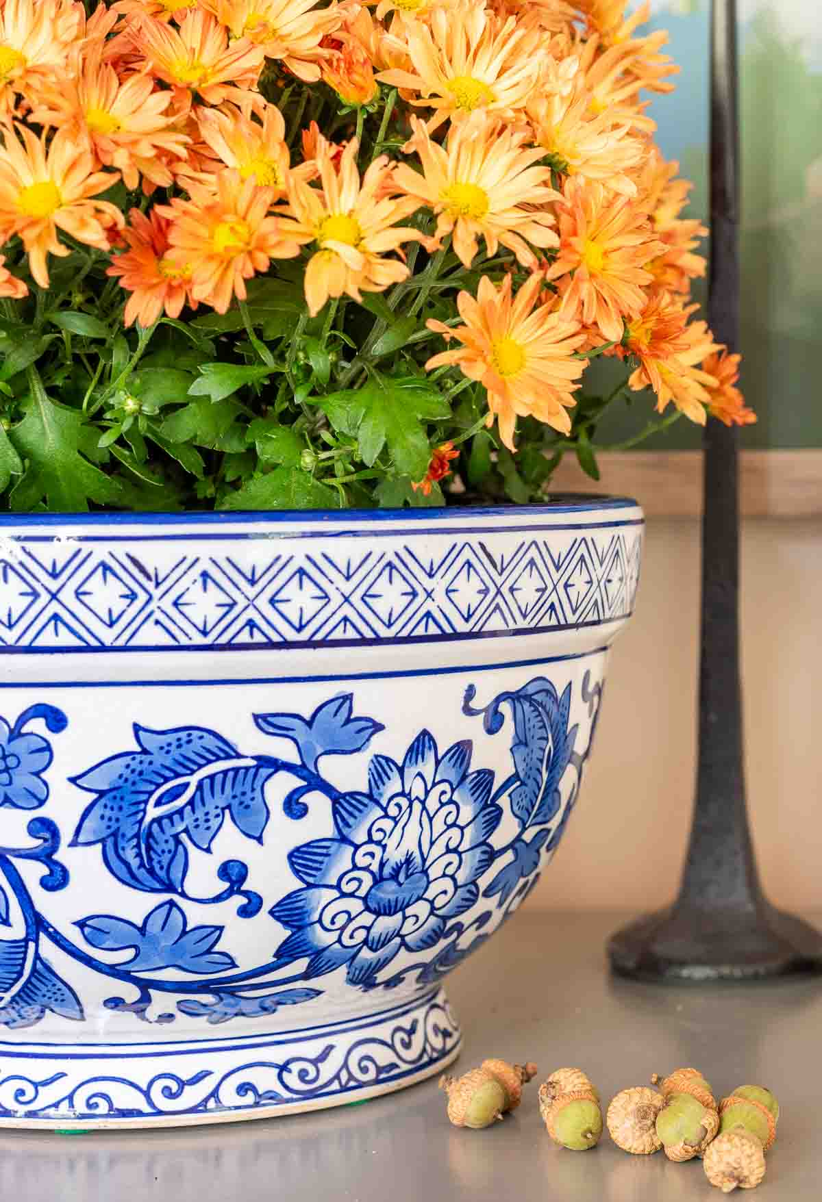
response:
<svg viewBox="0 0 822 1202"><path fill-rule="evenodd" d="M227 813L238 831L260 841L268 821L265 785L280 766L242 756L199 726L136 725L134 732L138 751L110 756L73 778L99 796L72 843L101 844L106 867L132 888L183 893L189 863L183 835L211 851Z"/></svg>

